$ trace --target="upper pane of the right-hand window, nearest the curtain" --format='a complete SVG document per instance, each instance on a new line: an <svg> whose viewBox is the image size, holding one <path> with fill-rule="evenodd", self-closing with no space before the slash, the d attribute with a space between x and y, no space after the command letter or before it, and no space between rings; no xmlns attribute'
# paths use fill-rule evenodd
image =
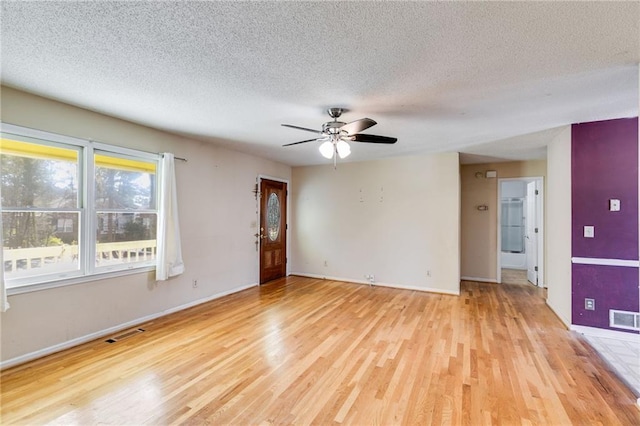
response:
<svg viewBox="0 0 640 426"><path fill-rule="evenodd" d="M95 161L98 209L155 209L155 163L104 153L96 154Z"/></svg>

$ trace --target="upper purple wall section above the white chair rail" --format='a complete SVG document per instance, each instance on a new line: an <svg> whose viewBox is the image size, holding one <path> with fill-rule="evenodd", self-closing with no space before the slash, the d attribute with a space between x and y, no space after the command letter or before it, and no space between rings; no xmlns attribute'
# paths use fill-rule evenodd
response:
<svg viewBox="0 0 640 426"><path fill-rule="evenodd" d="M571 140L572 255L637 260L638 119L574 124ZM595 238L584 238L585 225Z"/></svg>

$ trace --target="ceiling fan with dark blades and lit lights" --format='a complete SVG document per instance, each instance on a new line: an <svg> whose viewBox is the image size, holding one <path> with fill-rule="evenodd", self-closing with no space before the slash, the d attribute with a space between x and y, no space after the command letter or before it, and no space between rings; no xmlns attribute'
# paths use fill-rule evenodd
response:
<svg viewBox="0 0 640 426"><path fill-rule="evenodd" d="M394 144L398 141L397 138L390 138L387 136L369 135L366 133L360 133L369 127L375 126L377 123L370 118L361 118L360 120L352 121L350 123L344 123L338 121L338 118L346 112L343 108L329 108L327 113L329 117L333 118L333 121L328 121L322 125L322 130L308 129L306 127L293 126L291 124L283 124L284 127L290 127L292 129L304 130L305 132L316 133L318 136L313 139L307 139L304 141L288 143L282 146L298 145L301 143L322 141L320 145L320 154L327 159L333 158L335 166L336 158L345 158L351 154L351 147L348 142L366 142L366 143L382 143L382 144Z"/></svg>

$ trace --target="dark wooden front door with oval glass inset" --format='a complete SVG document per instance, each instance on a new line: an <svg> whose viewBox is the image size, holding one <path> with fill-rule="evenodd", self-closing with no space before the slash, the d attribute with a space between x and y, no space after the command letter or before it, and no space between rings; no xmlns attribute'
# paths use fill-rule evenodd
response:
<svg viewBox="0 0 640 426"><path fill-rule="evenodd" d="M287 184L260 181L260 284L287 273Z"/></svg>

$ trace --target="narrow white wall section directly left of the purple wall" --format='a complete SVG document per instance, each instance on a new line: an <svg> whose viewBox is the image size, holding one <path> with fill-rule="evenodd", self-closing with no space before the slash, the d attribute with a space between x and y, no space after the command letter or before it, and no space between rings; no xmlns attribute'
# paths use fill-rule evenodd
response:
<svg viewBox="0 0 640 426"><path fill-rule="evenodd" d="M571 325L571 126L547 146L547 304Z"/></svg>

